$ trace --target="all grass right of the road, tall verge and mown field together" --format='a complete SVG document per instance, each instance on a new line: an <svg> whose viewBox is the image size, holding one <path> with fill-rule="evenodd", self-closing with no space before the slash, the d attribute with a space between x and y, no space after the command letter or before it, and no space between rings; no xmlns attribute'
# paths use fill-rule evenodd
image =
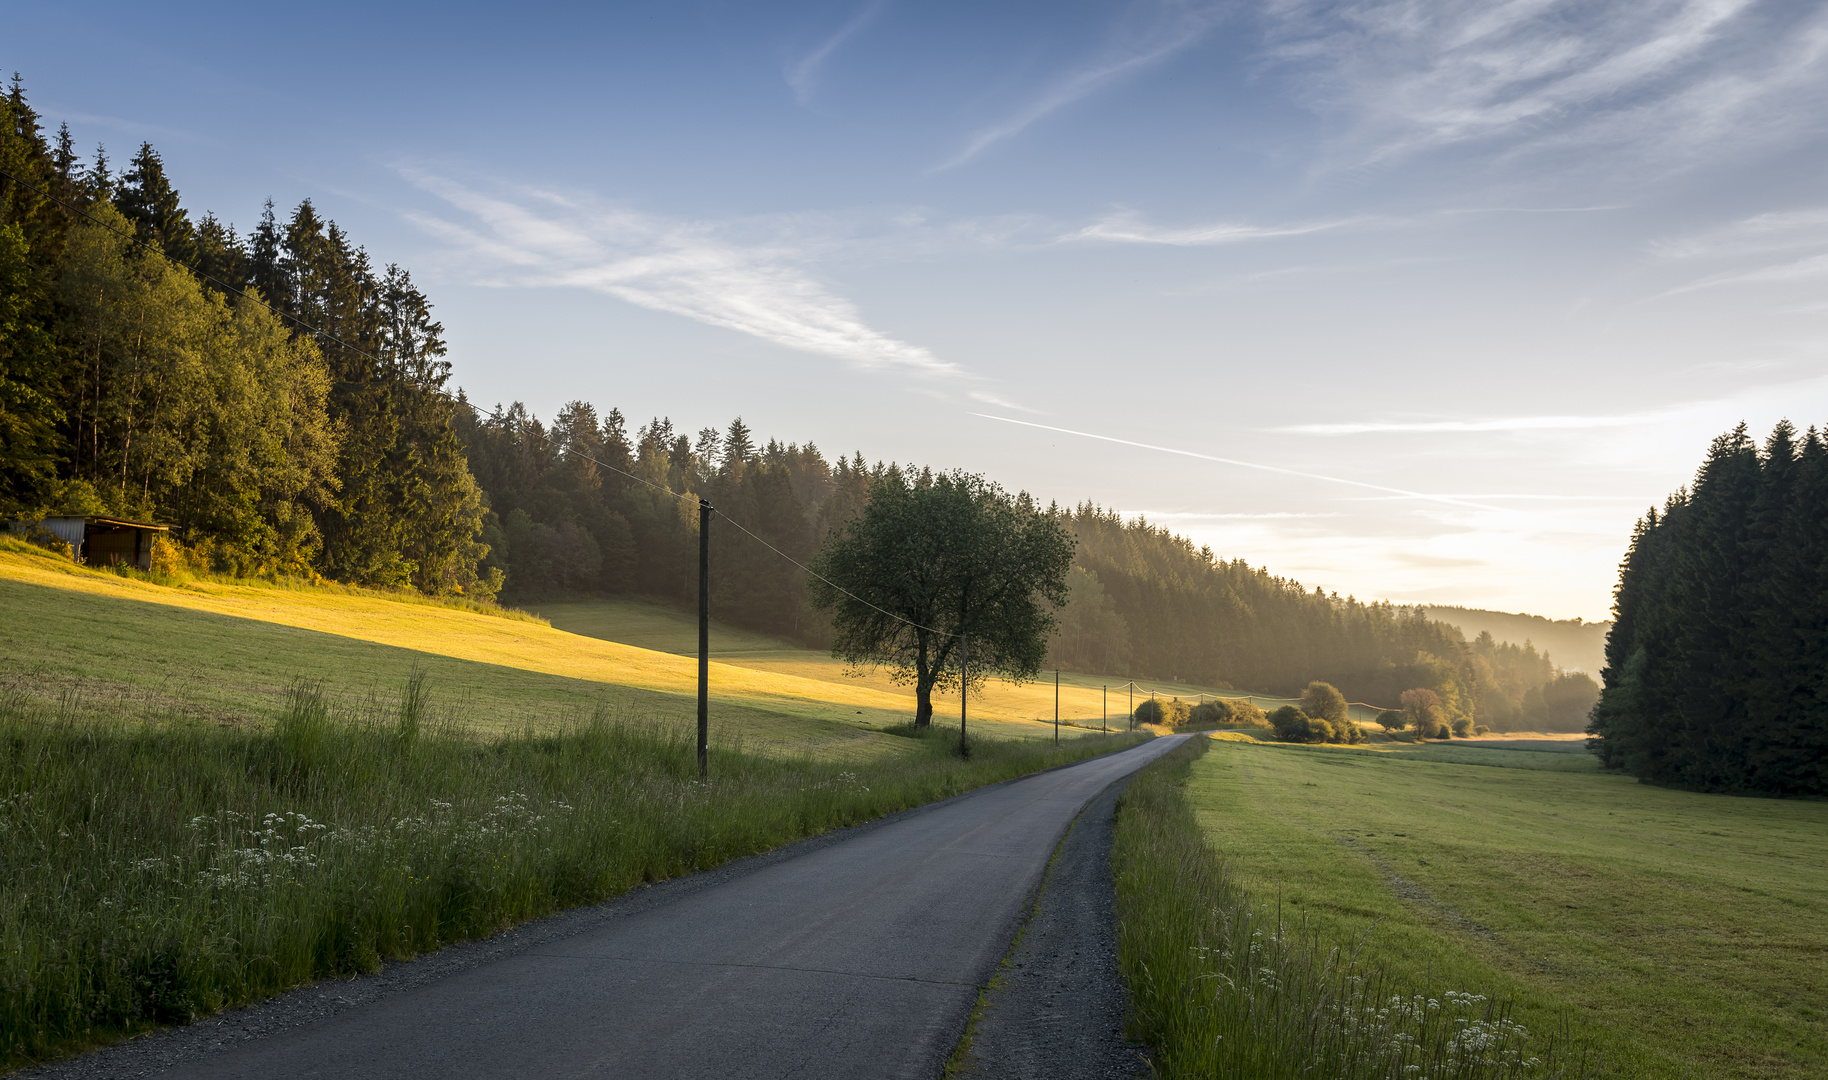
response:
<svg viewBox="0 0 1828 1080"><path fill-rule="evenodd" d="M1802 1080L1828 1067L1828 804L1645 788L1568 742L1227 738L1153 766L1119 811L1122 963L1163 1075L1292 1076L1303 1043L1274 1032L1349 1001L1360 1018L1373 1005L1397 1016L1391 1000L1417 994L1541 1064L1446 1069L1439 1029L1419 1073L1355 1073L1371 1065L1334 1056L1313 1075ZM1250 943L1272 961L1245 965ZM1389 1045L1378 1040L1395 1031L1360 1034ZM1316 1047L1375 1060L1323 1034Z"/></svg>

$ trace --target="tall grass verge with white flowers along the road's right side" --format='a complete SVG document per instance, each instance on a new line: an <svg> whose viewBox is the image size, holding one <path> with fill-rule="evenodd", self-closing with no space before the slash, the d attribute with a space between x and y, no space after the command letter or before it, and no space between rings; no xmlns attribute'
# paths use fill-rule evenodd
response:
<svg viewBox="0 0 1828 1080"><path fill-rule="evenodd" d="M1565 1032L1530 1032L1475 987L1404 987L1238 888L1183 799L1205 738L1164 755L1117 811L1119 963L1157 1075L1227 1080L1589 1076ZM1373 930L1375 932L1375 930Z"/></svg>

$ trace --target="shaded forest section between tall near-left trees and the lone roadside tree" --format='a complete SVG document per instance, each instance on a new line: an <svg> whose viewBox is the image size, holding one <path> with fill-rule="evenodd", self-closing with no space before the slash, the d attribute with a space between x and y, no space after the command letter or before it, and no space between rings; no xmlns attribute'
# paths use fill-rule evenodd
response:
<svg viewBox="0 0 1828 1080"><path fill-rule="evenodd" d="M620 409L585 402L567 404L550 428L519 402L484 415L466 408L457 429L492 506L484 566L505 572L510 598L696 598L702 497L775 548L713 526L717 618L810 643L828 641L830 629L793 563L810 563L863 506L872 477L894 468L861 455L828 462L812 442L759 446L740 417L696 437L665 418L631 433Z"/></svg>

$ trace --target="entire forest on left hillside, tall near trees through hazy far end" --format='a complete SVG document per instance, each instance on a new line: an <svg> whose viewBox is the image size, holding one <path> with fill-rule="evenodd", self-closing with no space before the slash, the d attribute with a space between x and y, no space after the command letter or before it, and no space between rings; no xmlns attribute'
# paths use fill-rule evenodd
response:
<svg viewBox="0 0 1828 1080"><path fill-rule="evenodd" d="M898 468L757 442L742 420L631 431L585 402L550 426L519 404L473 411L446 391L442 327L411 276L309 201L283 219L269 203L243 236L192 217L154 146L84 161L16 79L0 111L0 170L18 177L0 177L0 514L154 517L181 530L163 559L214 572L684 601L695 515L622 473L704 495L808 561ZM1091 504L1055 512L1079 539L1053 649L1069 671L1278 693L1318 678L1376 705L1422 687L1495 729L1576 731L1598 696L1528 645L1303 590ZM792 563L724 528L713 565L717 618L826 641Z"/></svg>

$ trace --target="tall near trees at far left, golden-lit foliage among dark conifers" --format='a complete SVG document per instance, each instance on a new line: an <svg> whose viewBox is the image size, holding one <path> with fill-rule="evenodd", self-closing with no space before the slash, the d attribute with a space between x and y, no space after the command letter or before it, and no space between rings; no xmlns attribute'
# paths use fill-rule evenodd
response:
<svg viewBox="0 0 1828 1080"><path fill-rule="evenodd" d="M411 274L309 201L245 238L192 217L150 143L84 163L18 79L0 170L0 512L157 519L234 574L499 585Z"/></svg>

